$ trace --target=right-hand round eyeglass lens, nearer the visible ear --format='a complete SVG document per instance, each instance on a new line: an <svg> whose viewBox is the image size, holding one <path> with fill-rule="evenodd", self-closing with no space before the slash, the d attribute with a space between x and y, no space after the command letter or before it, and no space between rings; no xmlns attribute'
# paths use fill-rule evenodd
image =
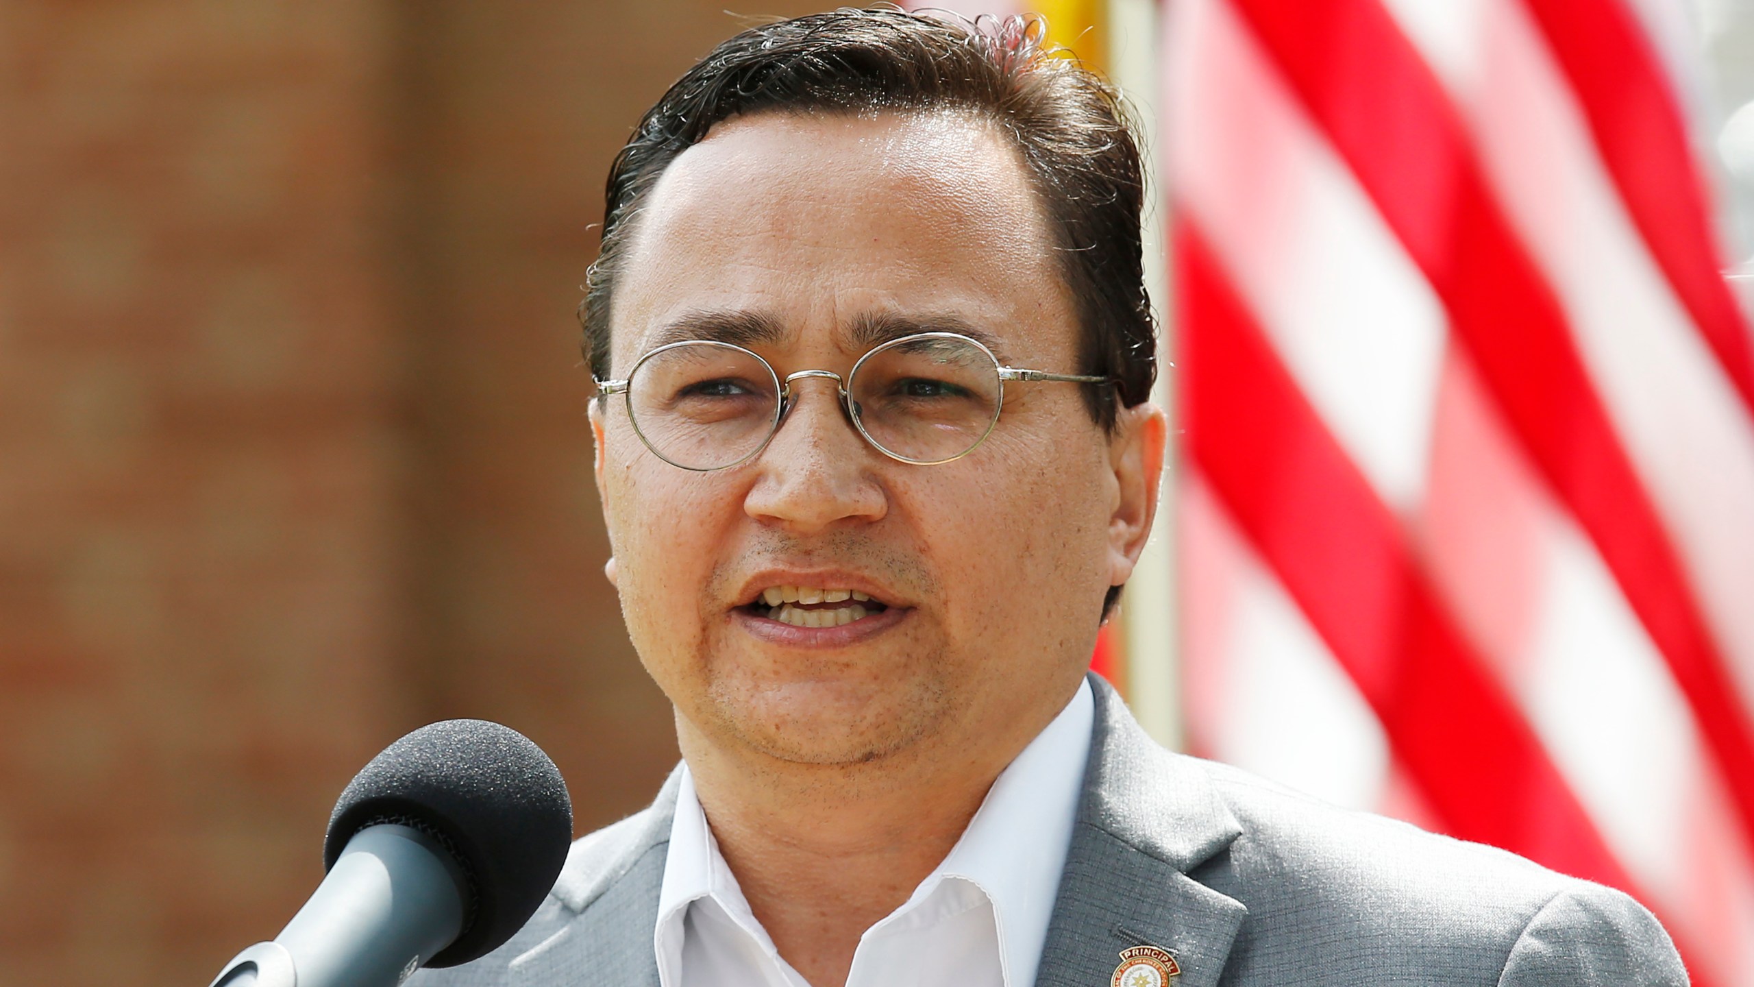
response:
<svg viewBox="0 0 1754 987"><path fill-rule="evenodd" d="M852 369L847 393L865 436L916 464L973 450L998 421L998 362L972 339L921 334L886 342Z"/></svg>

